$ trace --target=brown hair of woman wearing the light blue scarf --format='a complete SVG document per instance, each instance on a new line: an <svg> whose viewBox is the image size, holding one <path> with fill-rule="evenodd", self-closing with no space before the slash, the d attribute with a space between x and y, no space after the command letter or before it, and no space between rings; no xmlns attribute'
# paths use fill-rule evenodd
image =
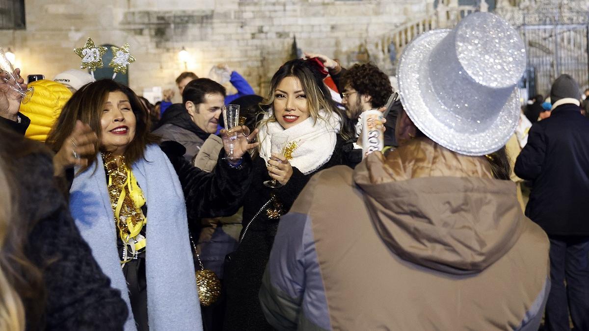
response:
<svg viewBox="0 0 589 331"><path fill-rule="evenodd" d="M80 90L72 95L71 99L65 104L57 122L54 124L51 133L47 138L47 143L52 150L58 151L68 136L74 131L77 120L87 123L92 131L98 135L96 150L100 150L100 141L102 127L100 118L104 103L108 99L110 92L123 92L131 104L133 114L135 114L136 127L135 137L129 143L123 154L127 164L133 164L135 161L143 158L145 147L151 143L157 143L157 136L150 133L149 112L145 109L143 102L139 100L137 94L123 84L113 80L99 80L84 85ZM88 167L92 165L94 159L88 162ZM84 171L81 169L80 171Z"/></svg>

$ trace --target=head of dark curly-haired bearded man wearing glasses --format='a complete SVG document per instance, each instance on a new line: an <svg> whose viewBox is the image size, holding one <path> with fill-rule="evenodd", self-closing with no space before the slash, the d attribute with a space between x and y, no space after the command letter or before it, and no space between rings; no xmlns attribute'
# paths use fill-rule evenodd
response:
<svg viewBox="0 0 589 331"><path fill-rule="evenodd" d="M355 64L342 75L342 104L352 120L363 111L384 107L393 92L389 77L376 65Z"/></svg>

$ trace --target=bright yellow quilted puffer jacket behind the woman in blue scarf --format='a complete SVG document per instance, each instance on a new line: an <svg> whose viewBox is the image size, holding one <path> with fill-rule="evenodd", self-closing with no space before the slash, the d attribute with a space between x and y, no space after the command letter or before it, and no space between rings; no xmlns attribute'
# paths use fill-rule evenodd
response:
<svg viewBox="0 0 589 331"><path fill-rule="evenodd" d="M26 104L21 104L22 114L31 119L25 136L45 141L72 92L64 84L49 80L34 81L29 87L35 88L33 97Z"/></svg>

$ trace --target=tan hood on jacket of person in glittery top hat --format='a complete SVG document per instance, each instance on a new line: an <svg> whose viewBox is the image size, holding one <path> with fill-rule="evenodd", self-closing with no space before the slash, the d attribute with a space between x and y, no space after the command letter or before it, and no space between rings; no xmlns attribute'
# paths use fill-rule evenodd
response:
<svg viewBox="0 0 589 331"><path fill-rule="evenodd" d="M356 167L356 184L386 245L404 260L444 273L478 273L522 233L515 184L492 177L485 157L418 138Z"/></svg>

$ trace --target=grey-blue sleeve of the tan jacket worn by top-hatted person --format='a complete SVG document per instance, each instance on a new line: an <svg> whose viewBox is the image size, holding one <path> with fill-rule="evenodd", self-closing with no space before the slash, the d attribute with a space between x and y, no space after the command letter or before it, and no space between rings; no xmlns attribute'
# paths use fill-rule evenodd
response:
<svg viewBox="0 0 589 331"><path fill-rule="evenodd" d="M260 289L266 320L278 330L331 329L311 224L300 213L280 219Z"/></svg>

